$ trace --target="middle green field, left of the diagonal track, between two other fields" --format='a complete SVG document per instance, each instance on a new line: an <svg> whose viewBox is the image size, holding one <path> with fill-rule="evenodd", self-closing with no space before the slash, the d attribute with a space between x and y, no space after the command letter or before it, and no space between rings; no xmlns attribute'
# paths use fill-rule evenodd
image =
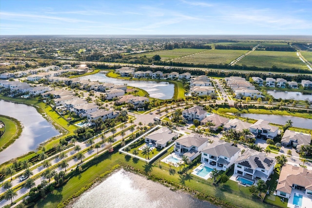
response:
<svg viewBox="0 0 312 208"><path fill-rule="evenodd" d="M205 63L205 64L220 64L231 63L247 50L208 50L202 53L197 53L182 58L177 58L174 62L183 63Z"/></svg>

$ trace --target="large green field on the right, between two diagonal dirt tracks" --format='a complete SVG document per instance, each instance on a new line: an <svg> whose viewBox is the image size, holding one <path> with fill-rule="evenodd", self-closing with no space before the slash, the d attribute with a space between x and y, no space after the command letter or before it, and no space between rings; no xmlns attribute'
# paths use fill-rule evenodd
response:
<svg viewBox="0 0 312 208"><path fill-rule="evenodd" d="M236 62L236 65L257 66L270 68L273 65L278 68L308 69L296 52L287 51L253 51Z"/></svg>

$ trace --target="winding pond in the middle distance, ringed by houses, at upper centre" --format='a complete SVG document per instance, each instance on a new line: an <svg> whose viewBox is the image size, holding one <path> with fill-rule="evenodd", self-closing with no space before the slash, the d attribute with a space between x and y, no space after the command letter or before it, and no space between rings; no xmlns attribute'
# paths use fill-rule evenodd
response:
<svg viewBox="0 0 312 208"><path fill-rule="evenodd" d="M152 98L158 98L162 100L172 99L175 92L175 85L172 83L115 79L107 77L105 73L83 76L80 77L80 80L90 80L93 82L98 81L101 83L127 84L129 86L145 90Z"/></svg>

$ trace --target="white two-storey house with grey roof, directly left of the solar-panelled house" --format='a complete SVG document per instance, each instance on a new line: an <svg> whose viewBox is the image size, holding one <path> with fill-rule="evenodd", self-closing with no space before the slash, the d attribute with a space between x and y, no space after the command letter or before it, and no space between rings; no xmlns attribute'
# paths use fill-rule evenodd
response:
<svg viewBox="0 0 312 208"><path fill-rule="evenodd" d="M230 143L213 143L201 150L201 162L205 166L215 166L218 170L226 170L238 159L241 150Z"/></svg>

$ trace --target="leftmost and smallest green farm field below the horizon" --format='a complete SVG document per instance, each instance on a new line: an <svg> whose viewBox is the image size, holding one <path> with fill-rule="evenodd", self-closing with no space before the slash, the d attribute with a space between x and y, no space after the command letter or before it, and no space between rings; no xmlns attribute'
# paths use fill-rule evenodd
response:
<svg viewBox="0 0 312 208"><path fill-rule="evenodd" d="M194 48L178 48L173 50L161 50L161 51L154 51L151 53L142 53L139 56L146 56L146 57L153 57L155 55L159 55L162 61L168 59L174 59L177 57L188 56L190 54L196 54L199 52L207 51L207 49L194 49ZM136 54L137 56L138 54Z"/></svg>

